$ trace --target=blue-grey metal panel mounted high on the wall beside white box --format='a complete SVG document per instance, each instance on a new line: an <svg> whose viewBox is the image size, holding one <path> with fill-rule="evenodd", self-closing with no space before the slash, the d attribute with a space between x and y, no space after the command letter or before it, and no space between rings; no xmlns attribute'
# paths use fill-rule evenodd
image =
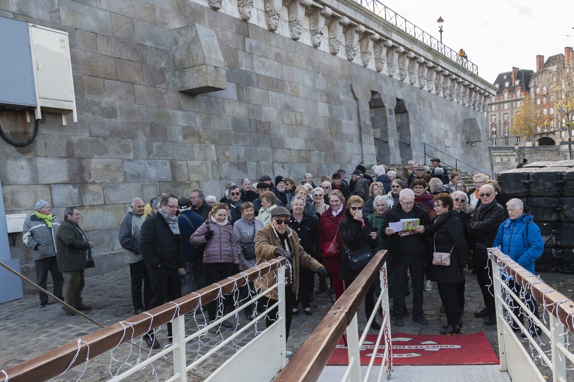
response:
<svg viewBox="0 0 574 382"><path fill-rule="evenodd" d="M36 107L28 23L0 16L0 106Z"/></svg>

